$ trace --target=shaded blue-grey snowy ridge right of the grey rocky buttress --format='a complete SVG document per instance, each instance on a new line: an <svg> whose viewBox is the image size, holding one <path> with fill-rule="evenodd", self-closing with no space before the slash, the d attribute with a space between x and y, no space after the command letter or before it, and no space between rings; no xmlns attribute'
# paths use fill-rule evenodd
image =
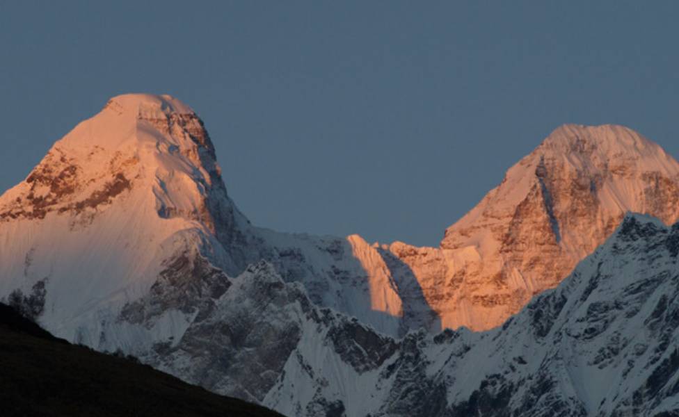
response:
<svg viewBox="0 0 679 417"><path fill-rule="evenodd" d="M380 341L344 325L337 343L308 329L264 404L289 416L674 416L678 253L679 224L628 215L556 289L488 332ZM365 359L376 346L381 365Z"/></svg>

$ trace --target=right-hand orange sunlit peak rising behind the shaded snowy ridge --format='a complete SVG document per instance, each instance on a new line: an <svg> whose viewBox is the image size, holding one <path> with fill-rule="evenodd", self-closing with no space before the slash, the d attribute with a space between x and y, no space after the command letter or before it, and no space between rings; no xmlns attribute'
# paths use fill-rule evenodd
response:
<svg viewBox="0 0 679 417"><path fill-rule="evenodd" d="M565 125L445 232L440 248L389 250L443 327L489 329L553 288L628 211L679 219L679 163L623 126Z"/></svg>

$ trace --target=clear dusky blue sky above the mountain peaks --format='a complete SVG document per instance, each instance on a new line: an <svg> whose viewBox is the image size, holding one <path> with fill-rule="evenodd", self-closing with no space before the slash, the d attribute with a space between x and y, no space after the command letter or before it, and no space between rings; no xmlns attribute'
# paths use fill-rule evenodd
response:
<svg viewBox="0 0 679 417"><path fill-rule="evenodd" d="M255 224L438 245L559 124L679 156L677 22L676 1L0 0L0 192L109 97L168 93Z"/></svg>

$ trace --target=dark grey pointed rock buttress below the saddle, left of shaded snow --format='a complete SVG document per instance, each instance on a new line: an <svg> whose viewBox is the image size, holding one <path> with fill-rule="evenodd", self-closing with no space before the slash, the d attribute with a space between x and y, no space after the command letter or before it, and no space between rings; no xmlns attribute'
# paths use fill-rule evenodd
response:
<svg viewBox="0 0 679 417"><path fill-rule="evenodd" d="M268 263L216 289L194 307L181 340L156 345L147 361L211 391L262 401L297 347L311 304Z"/></svg>

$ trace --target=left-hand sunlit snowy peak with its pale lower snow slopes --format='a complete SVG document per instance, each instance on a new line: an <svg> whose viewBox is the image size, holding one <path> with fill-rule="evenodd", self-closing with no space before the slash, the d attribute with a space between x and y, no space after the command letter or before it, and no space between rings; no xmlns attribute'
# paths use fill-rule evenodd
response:
<svg viewBox="0 0 679 417"><path fill-rule="evenodd" d="M114 97L0 197L0 287L46 288L55 313L45 324L73 339L70 318L83 309L104 300L120 308L187 242L229 243L247 224L189 106L166 95ZM223 251L214 256L234 265Z"/></svg>

